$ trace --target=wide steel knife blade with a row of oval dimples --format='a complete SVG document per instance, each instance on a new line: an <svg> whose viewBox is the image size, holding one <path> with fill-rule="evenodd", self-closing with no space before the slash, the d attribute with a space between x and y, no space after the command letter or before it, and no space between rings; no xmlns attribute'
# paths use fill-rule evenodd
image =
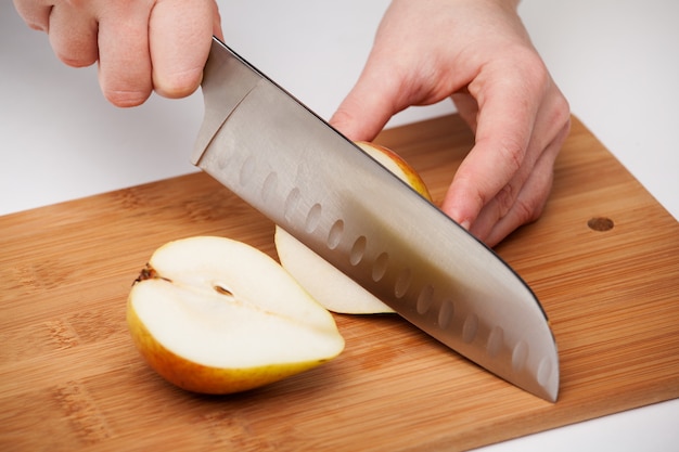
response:
<svg viewBox="0 0 679 452"><path fill-rule="evenodd" d="M202 91L194 165L414 326L556 401L545 310L492 249L217 38Z"/></svg>

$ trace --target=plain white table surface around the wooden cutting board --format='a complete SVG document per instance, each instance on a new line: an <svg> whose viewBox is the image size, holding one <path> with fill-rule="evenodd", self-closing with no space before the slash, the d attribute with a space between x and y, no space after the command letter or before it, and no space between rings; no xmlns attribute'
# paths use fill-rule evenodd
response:
<svg viewBox="0 0 679 452"><path fill-rule="evenodd" d="M220 7L227 41L328 118L358 76L387 3ZM679 2L524 0L521 13L573 113L679 218ZM0 215L195 171L188 159L200 94L113 107L97 69L61 64L9 1L0 4ZM448 103L411 108L389 126L450 112ZM678 427L679 399L483 450L676 451Z"/></svg>

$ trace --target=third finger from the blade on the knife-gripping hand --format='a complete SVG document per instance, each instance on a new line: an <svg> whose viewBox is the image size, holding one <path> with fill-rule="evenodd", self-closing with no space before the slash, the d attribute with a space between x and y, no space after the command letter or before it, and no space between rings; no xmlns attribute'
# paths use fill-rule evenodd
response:
<svg viewBox="0 0 679 452"><path fill-rule="evenodd" d="M71 3L52 8L49 17L49 39L54 54L73 67L85 67L97 62L97 20L87 11Z"/></svg>

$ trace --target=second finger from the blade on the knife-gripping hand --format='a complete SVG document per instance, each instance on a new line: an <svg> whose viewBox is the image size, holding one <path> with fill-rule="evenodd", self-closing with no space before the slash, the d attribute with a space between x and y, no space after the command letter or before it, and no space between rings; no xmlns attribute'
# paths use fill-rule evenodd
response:
<svg viewBox="0 0 679 452"><path fill-rule="evenodd" d="M121 107L142 104L151 95L149 5L108 2L99 21L99 85Z"/></svg>

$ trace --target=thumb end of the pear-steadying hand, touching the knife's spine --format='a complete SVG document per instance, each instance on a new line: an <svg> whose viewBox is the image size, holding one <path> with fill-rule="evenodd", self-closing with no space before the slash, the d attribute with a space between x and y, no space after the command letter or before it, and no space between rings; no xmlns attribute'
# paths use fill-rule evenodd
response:
<svg viewBox="0 0 679 452"><path fill-rule="evenodd" d="M393 78L366 66L358 81L337 107L330 124L353 141L372 141L395 113L399 90Z"/></svg>

